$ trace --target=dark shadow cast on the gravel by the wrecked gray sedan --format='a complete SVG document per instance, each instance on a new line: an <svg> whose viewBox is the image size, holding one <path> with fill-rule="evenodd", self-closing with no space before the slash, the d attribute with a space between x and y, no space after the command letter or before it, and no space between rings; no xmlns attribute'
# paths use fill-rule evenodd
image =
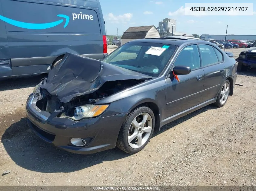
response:
<svg viewBox="0 0 256 191"><path fill-rule="evenodd" d="M175 120L161 128L157 136L200 113L216 107L207 106L180 119ZM59 150L38 138L28 127L27 118L23 117L5 130L2 136L2 144L10 158L20 167L28 170L56 173L74 172L102 163L103 161L115 161L130 156L118 148L102 151L90 155L68 153Z"/></svg>

